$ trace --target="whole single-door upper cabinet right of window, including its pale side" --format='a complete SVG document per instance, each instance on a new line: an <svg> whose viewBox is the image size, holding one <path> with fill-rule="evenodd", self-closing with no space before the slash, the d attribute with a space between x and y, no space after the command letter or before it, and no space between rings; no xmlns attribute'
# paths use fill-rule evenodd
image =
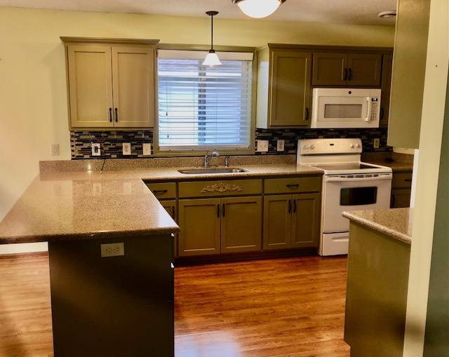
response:
<svg viewBox="0 0 449 357"><path fill-rule="evenodd" d="M262 48L257 62L257 127L309 125L311 52Z"/></svg>

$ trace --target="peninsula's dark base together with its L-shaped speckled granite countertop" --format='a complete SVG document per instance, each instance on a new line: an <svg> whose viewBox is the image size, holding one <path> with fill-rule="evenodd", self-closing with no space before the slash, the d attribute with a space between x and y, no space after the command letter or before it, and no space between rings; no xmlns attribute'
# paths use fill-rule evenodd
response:
<svg viewBox="0 0 449 357"><path fill-rule="evenodd" d="M48 241L55 356L173 356L179 228L143 180L314 175L321 189L314 168L241 168L222 175L184 175L176 168L41 170L0 223L0 243Z"/></svg>

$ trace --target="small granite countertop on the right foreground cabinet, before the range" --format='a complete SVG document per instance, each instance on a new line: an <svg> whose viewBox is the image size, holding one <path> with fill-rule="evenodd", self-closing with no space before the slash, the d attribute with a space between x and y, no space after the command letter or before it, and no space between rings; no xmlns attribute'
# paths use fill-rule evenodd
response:
<svg viewBox="0 0 449 357"><path fill-rule="evenodd" d="M410 208L389 208L386 210L354 210L344 212L343 217L411 244L412 214L413 211Z"/></svg>

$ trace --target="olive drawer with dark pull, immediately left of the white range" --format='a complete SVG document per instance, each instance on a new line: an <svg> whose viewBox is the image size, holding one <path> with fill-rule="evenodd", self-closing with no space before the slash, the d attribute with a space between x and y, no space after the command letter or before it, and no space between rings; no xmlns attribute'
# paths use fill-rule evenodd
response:
<svg viewBox="0 0 449 357"><path fill-rule="evenodd" d="M290 194L297 192L321 191L321 177L288 177L267 179L264 185L265 194Z"/></svg>

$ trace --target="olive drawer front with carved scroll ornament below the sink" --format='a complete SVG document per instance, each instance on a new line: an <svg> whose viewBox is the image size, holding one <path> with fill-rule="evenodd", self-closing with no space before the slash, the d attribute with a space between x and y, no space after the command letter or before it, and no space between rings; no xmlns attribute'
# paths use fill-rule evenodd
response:
<svg viewBox="0 0 449 357"><path fill-rule="evenodd" d="M180 198L249 194L262 194L262 180L217 180L179 183Z"/></svg>

